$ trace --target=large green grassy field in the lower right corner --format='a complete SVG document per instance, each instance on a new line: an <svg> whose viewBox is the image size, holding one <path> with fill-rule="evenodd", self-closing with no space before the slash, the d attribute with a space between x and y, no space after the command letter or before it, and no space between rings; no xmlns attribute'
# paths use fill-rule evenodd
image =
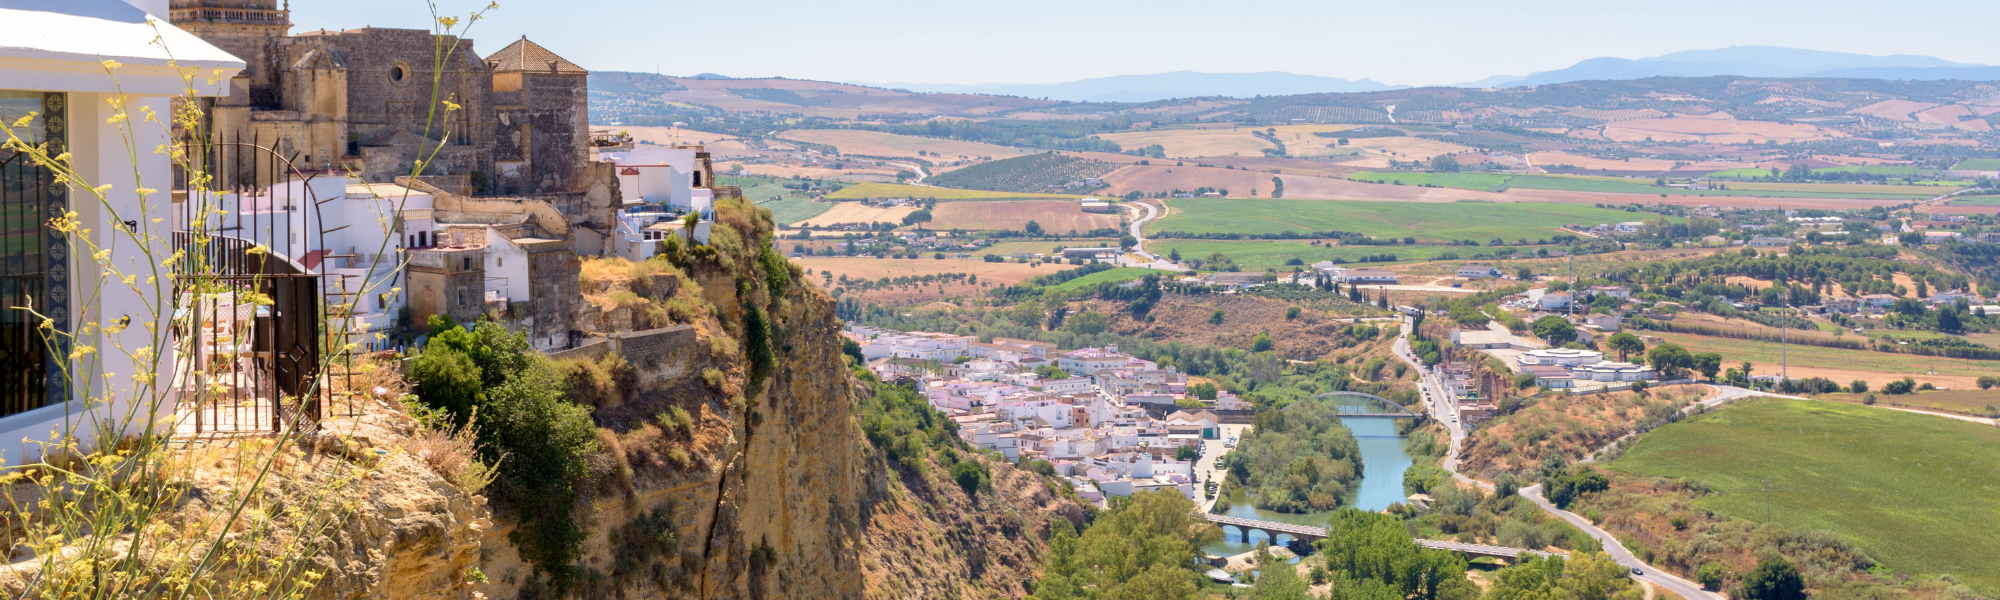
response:
<svg viewBox="0 0 2000 600"><path fill-rule="evenodd" d="M1748 400L1658 428L1614 470L1706 482L1696 504L1834 532L1894 572L2000 590L2000 428L1832 402Z"/></svg>

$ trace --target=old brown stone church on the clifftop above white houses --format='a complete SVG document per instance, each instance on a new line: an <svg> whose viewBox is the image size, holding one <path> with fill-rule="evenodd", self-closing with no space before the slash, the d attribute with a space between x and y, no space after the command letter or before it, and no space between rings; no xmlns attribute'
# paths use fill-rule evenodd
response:
<svg viewBox="0 0 2000 600"><path fill-rule="evenodd" d="M466 196L586 186L582 66L526 36L480 58L472 40L428 30L290 34L290 0L278 2L172 2L174 26L248 64L230 80L230 96L206 100L214 142L272 148L300 170L368 182L408 176L436 148L424 180ZM446 114L434 94L462 108Z"/></svg>

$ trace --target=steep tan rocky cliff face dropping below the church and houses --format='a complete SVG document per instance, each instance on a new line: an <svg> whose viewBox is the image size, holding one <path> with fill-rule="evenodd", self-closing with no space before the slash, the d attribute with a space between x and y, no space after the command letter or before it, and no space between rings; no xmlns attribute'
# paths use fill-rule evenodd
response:
<svg viewBox="0 0 2000 600"><path fill-rule="evenodd" d="M576 322L610 336L556 358L632 374L576 392L594 406L606 452L582 506L582 578L566 596L1024 596L1050 520L1082 522L1084 510L1006 464L990 466L992 492L976 498L936 464L890 466L856 424L864 390L846 370L832 298L740 242L768 236L768 216L740 202L720 212L712 254L676 260L670 274L584 266L594 314ZM602 300L620 290L650 300ZM618 332L634 322L654 330ZM508 540L536 516L494 514L412 466L366 484L316 596L558 596Z"/></svg>

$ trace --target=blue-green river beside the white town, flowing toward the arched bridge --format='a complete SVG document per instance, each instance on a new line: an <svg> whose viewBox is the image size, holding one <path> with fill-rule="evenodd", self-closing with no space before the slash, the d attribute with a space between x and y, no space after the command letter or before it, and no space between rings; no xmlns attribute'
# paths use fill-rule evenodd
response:
<svg viewBox="0 0 2000 600"><path fill-rule="evenodd" d="M1402 472L1410 468L1412 460L1410 452L1404 450L1404 436L1396 434L1396 420L1348 418L1346 426L1354 432L1354 440L1362 446L1362 478L1356 482L1356 490L1348 496L1348 504L1344 506L1382 510L1408 498L1408 494L1402 492ZM1244 494L1242 488L1236 488L1230 494L1230 510L1224 514L1236 518L1326 526L1326 516L1332 512L1288 514L1262 510L1250 506L1248 494ZM1202 546L1202 550L1208 554L1232 556L1254 550L1260 540L1264 540L1262 534L1250 534L1250 540L1244 540L1242 532L1236 528L1222 528L1222 542Z"/></svg>

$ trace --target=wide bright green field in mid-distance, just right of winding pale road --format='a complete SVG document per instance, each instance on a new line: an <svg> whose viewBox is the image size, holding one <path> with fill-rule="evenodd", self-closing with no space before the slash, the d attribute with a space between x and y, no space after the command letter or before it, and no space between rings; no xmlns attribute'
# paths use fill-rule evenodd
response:
<svg viewBox="0 0 2000 600"><path fill-rule="evenodd" d="M1358 232L1378 238L1418 238L1430 242L1502 238L1508 242L1546 240L1562 224L1608 224L1646 220L1656 214L1594 208L1582 204L1492 204L1492 202L1346 202L1346 200L1244 200L1174 198L1170 214L1150 226L1156 232L1190 234L1284 234Z"/></svg>

